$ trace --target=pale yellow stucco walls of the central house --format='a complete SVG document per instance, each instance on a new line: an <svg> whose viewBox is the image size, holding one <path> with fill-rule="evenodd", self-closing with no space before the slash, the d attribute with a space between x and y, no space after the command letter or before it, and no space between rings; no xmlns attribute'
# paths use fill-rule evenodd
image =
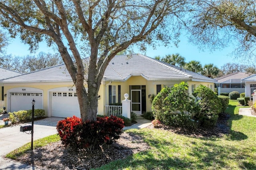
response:
<svg viewBox="0 0 256 170"><path fill-rule="evenodd" d="M105 114L105 105L108 105L108 86L116 85L116 101L118 102L118 85L121 86L121 101L124 100L124 94L128 93L130 99L130 86L131 85L145 85L146 86L146 111L151 111L151 103L148 95L155 94L156 95L156 85L161 85L163 88L165 85L172 86L174 84L180 83L181 81L147 81L142 76L132 76L127 81L123 82L102 82L98 95L100 95L100 99L98 100L98 114ZM205 82L197 82L197 81L187 81L189 85L189 94L192 94L191 85L194 84L195 88L202 84L206 87L214 87L214 83L205 83ZM16 83L14 84L4 84L4 94L7 94L7 97L4 97L4 101L7 104L7 99L10 97L7 93L8 90L16 87L33 87L37 89L41 89L43 91L43 109L46 111L46 115L48 115L48 104L49 104L49 93L50 89L58 88L58 87L71 87L73 83ZM214 89L212 89L214 90ZM22 92L21 92L22 93ZM7 105L6 105L7 106ZM6 107L6 111L8 108Z"/></svg>

